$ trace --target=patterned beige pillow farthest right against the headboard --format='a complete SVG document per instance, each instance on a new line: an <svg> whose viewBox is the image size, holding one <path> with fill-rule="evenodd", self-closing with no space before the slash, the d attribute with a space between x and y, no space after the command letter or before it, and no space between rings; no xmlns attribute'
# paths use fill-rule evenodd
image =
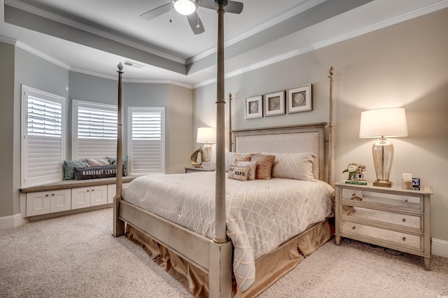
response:
<svg viewBox="0 0 448 298"><path fill-rule="evenodd" d="M313 161L316 157L312 152L276 153L272 177L314 181Z"/></svg>

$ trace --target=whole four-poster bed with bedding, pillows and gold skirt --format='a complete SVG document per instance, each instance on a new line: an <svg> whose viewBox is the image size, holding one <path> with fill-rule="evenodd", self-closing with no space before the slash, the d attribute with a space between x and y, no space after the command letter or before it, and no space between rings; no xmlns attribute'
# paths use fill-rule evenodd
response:
<svg viewBox="0 0 448 298"><path fill-rule="evenodd" d="M223 4L218 3L221 29L222 17ZM330 69L325 183L325 122L234 130L234 152L225 152L222 39L218 30L216 171L141 176L122 190L118 167L113 236L126 233L140 243L195 297L255 297L333 235L334 75ZM120 160L123 66L118 67Z"/></svg>

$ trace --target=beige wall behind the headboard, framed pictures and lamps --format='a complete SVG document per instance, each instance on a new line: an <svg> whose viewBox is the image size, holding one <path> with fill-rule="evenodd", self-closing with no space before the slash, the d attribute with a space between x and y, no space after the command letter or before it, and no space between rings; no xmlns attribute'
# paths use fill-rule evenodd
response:
<svg viewBox="0 0 448 298"><path fill-rule="evenodd" d="M349 162L375 173L374 139L360 139L360 113L372 108L406 108L409 136L391 139L395 157L390 180L402 173L432 185L431 229L448 241L448 9L351 38L262 69L228 78L232 92L232 127L243 129L328 122L328 69L335 68L335 180ZM244 119L244 98L313 84L313 111ZM216 84L194 90L195 127L215 121ZM200 119L200 120L199 120ZM227 148L227 147L226 147Z"/></svg>

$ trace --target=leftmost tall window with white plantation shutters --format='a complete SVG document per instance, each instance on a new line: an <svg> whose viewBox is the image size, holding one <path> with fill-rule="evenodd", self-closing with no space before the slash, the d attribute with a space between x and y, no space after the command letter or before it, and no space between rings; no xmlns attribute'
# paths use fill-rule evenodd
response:
<svg viewBox="0 0 448 298"><path fill-rule="evenodd" d="M65 98L22 85L22 187L62 179Z"/></svg>

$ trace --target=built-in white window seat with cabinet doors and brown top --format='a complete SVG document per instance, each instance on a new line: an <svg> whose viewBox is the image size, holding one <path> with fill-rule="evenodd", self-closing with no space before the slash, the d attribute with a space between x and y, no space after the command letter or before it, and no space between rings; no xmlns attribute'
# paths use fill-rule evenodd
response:
<svg viewBox="0 0 448 298"><path fill-rule="evenodd" d="M123 177L123 185L138 175ZM40 220L111 207L116 196L116 177L62 180L20 189L22 218Z"/></svg>

